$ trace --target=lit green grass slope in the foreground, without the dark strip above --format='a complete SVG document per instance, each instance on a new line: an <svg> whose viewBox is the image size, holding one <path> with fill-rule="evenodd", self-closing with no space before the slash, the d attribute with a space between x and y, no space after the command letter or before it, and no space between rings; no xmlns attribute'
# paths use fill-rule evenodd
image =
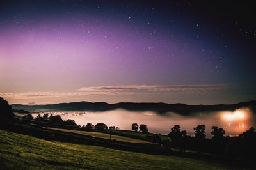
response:
<svg viewBox="0 0 256 170"><path fill-rule="evenodd" d="M189 158L45 141L0 130L0 169L225 169Z"/></svg>

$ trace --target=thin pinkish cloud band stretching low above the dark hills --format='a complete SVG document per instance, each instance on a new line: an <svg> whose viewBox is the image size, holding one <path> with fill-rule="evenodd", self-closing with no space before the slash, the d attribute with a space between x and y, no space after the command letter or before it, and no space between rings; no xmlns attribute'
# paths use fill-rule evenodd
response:
<svg viewBox="0 0 256 170"><path fill-rule="evenodd" d="M74 92L0 93L0 96L15 99L35 99L45 97L79 97L88 95L145 95L163 92L195 94L222 91L234 87L234 85L228 84L92 86L79 88Z"/></svg>

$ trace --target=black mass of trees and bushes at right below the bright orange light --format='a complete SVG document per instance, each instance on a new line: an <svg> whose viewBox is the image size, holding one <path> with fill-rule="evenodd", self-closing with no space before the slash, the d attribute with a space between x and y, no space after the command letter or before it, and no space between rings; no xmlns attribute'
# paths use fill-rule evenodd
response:
<svg viewBox="0 0 256 170"><path fill-rule="evenodd" d="M225 136L223 128L212 126L211 138L205 135L205 125L194 127L194 136L180 130L180 125L174 125L167 135L170 140L161 140L160 135L153 135L154 140L167 148L177 148L180 151L195 150L205 153L214 153L237 158L254 158L256 153L256 132L251 127L245 132L234 136Z"/></svg>

